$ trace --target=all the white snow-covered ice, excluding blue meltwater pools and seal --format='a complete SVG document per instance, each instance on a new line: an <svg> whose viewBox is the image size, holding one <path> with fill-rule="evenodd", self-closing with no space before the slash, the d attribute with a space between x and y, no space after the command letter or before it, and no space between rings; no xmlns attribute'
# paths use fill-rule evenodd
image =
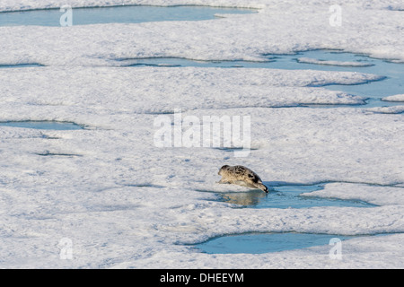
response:
<svg viewBox="0 0 404 287"><path fill-rule="evenodd" d="M3 0L2 11L122 1ZM403 268L404 114L378 109L281 108L358 104L322 85L378 75L270 69L119 67L119 58L262 60L266 53L340 48L404 61L400 1L124 1L211 4L259 13L203 22L0 27L0 121L86 126L48 131L0 126L2 268ZM402 4L401 4L402 5ZM285 12L287 11L287 13ZM245 158L216 148L158 148L154 119L250 116ZM44 156L43 154L49 154ZM376 206L237 208L218 192L224 165L242 164L270 186L332 182L306 196ZM188 244L244 232L357 235L330 246L209 255ZM386 236L370 236L391 233ZM71 246L61 244L69 239ZM72 258L64 259L66 248Z"/></svg>

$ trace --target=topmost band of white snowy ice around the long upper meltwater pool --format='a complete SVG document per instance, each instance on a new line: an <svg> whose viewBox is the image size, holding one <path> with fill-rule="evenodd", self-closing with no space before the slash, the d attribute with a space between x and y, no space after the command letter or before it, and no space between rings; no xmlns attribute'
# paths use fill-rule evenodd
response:
<svg viewBox="0 0 404 287"><path fill-rule="evenodd" d="M4 0L3 0L4 2ZM8 1L4 11L95 6L122 1ZM128 4L205 4L259 7L259 13L200 22L145 22L72 27L0 27L0 64L119 65L117 58L185 57L255 60L264 54L338 48L404 62L402 12L396 1L340 3L341 26L329 24L332 1L129 1ZM74 11L73 11L74 14Z"/></svg>

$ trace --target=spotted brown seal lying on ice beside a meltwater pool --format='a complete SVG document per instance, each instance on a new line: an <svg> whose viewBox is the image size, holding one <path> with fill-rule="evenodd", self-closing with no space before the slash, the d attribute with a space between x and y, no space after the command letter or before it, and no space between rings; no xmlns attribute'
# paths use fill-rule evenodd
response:
<svg viewBox="0 0 404 287"><path fill-rule="evenodd" d="M262 184L261 178L254 171L242 165L224 165L218 173L222 178L219 183L230 183L239 186L259 188L268 193L268 187Z"/></svg>

